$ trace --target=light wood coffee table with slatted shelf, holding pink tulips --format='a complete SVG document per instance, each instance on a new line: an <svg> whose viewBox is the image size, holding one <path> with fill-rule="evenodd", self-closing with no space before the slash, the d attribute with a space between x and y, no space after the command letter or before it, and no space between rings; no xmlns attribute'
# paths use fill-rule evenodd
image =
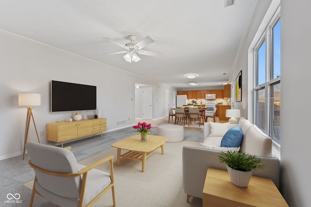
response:
<svg viewBox="0 0 311 207"><path fill-rule="evenodd" d="M160 147L162 155L164 155L164 143L167 140L167 137L147 135L147 142L140 142L140 135L135 135L113 143L111 146L118 148L118 166L120 165L120 158L138 160L142 162L141 172L145 172L146 158L152 155ZM127 150L127 152L121 155L121 149Z"/></svg>

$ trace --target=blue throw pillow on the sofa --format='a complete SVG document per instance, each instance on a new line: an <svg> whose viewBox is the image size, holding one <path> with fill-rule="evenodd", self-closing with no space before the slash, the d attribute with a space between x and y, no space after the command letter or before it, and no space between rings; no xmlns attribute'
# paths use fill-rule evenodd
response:
<svg viewBox="0 0 311 207"><path fill-rule="evenodd" d="M224 135L221 147L239 147L242 143L243 133L239 126L230 128Z"/></svg>

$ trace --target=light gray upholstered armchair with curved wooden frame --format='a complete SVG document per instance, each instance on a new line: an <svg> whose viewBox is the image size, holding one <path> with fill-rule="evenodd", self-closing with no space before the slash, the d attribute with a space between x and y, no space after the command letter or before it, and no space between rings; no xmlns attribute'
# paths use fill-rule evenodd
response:
<svg viewBox="0 0 311 207"><path fill-rule="evenodd" d="M110 188L116 206L112 155L83 166L69 150L61 147L29 142L26 148L28 163L35 170L31 207L35 194L63 207L88 207ZM109 173L95 169L105 162L109 163Z"/></svg>

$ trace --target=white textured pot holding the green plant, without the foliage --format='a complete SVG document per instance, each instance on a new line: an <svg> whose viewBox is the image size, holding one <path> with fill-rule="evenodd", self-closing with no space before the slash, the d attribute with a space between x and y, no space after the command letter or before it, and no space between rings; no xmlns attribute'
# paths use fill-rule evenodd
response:
<svg viewBox="0 0 311 207"><path fill-rule="evenodd" d="M231 182L238 187L247 187L253 175L252 171L244 172L244 171L234 170L228 165L227 165L227 170L228 170Z"/></svg>

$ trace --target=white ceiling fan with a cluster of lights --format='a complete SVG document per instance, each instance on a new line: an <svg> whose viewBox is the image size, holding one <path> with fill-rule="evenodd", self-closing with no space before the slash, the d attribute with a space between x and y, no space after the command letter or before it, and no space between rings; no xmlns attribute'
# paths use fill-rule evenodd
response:
<svg viewBox="0 0 311 207"><path fill-rule="evenodd" d="M121 54L121 53L127 53L124 55L124 59L127 62L132 63L140 61L140 58L138 57L137 54L140 55L149 55L149 56L158 56L161 53L159 52L152 52L152 51L147 51L143 50L142 48L146 47L147 45L150 45L151 43L155 42L155 40L151 39L149 36L146 36L144 39L140 40L138 43L135 43L136 36L135 35L128 35L127 38L131 41L129 43L126 43L125 45L110 39L108 37L104 37L104 39L107 39L108 41L120 46L123 48L123 51L120 52L110 52L110 53L104 53L104 55L114 55L114 54Z"/></svg>

